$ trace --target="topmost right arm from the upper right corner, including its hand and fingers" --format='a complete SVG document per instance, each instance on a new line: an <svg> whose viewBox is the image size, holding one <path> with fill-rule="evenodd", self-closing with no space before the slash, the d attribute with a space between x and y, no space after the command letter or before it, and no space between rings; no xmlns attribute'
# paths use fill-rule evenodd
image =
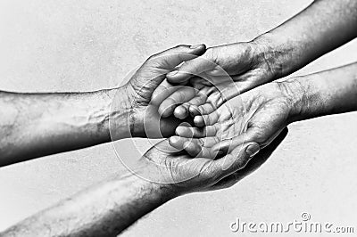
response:
<svg viewBox="0 0 357 237"><path fill-rule="evenodd" d="M163 117L173 113L182 119L188 116L191 105L211 103L218 108L221 102L207 100L206 94L223 93L224 102L286 77L357 37L356 29L357 1L314 1L303 12L251 42L211 47L201 57L183 63L178 72L168 74L167 78L176 84L191 78L189 86L196 90L182 89L170 94L162 100L159 111Z"/></svg>

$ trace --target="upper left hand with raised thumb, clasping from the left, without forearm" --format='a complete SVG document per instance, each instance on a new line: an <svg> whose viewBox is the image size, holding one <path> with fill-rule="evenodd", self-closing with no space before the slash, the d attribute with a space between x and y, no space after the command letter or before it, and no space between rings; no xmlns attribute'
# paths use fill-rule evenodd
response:
<svg viewBox="0 0 357 237"><path fill-rule="evenodd" d="M176 118L161 119L158 107L151 103L154 89L166 78L166 74L175 69L181 62L192 60L203 54L205 45L179 45L162 53L151 56L137 69L129 82L120 87L112 104L112 114L116 110L125 110L126 118L112 116L111 131L118 130L118 123L126 120L129 127L128 136L146 136L161 138L174 134L180 121ZM125 107L125 109L122 109ZM119 109L120 108L120 109ZM124 117L120 115L120 117ZM115 139L115 138L114 138Z"/></svg>

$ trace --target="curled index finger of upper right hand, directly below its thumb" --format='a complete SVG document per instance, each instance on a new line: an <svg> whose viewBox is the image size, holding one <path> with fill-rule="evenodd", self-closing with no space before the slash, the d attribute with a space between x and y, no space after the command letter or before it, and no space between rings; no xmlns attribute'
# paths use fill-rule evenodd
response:
<svg viewBox="0 0 357 237"><path fill-rule="evenodd" d="M169 95L159 106L159 114L163 118L169 117L173 110L183 102L191 100L195 96L195 88L183 86Z"/></svg>

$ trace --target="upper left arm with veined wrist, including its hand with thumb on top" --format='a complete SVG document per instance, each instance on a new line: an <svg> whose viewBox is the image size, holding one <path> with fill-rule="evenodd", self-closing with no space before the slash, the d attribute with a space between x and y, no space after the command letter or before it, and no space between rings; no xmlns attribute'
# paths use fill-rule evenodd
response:
<svg viewBox="0 0 357 237"><path fill-rule="evenodd" d="M89 93L0 92L0 167L131 136L173 135L179 119L160 119L154 89L204 45L179 45L151 56L120 88Z"/></svg>

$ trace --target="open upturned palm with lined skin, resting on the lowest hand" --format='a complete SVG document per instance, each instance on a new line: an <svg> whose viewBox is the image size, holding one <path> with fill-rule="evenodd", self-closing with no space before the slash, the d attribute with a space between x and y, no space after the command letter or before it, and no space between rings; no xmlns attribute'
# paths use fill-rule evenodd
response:
<svg viewBox="0 0 357 237"><path fill-rule="evenodd" d="M215 157L241 143L267 146L297 116L299 96L294 82L273 82L259 86L206 113L195 116L196 127L178 127L170 144L191 156ZM194 137L192 139L192 137Z"/></svg>

